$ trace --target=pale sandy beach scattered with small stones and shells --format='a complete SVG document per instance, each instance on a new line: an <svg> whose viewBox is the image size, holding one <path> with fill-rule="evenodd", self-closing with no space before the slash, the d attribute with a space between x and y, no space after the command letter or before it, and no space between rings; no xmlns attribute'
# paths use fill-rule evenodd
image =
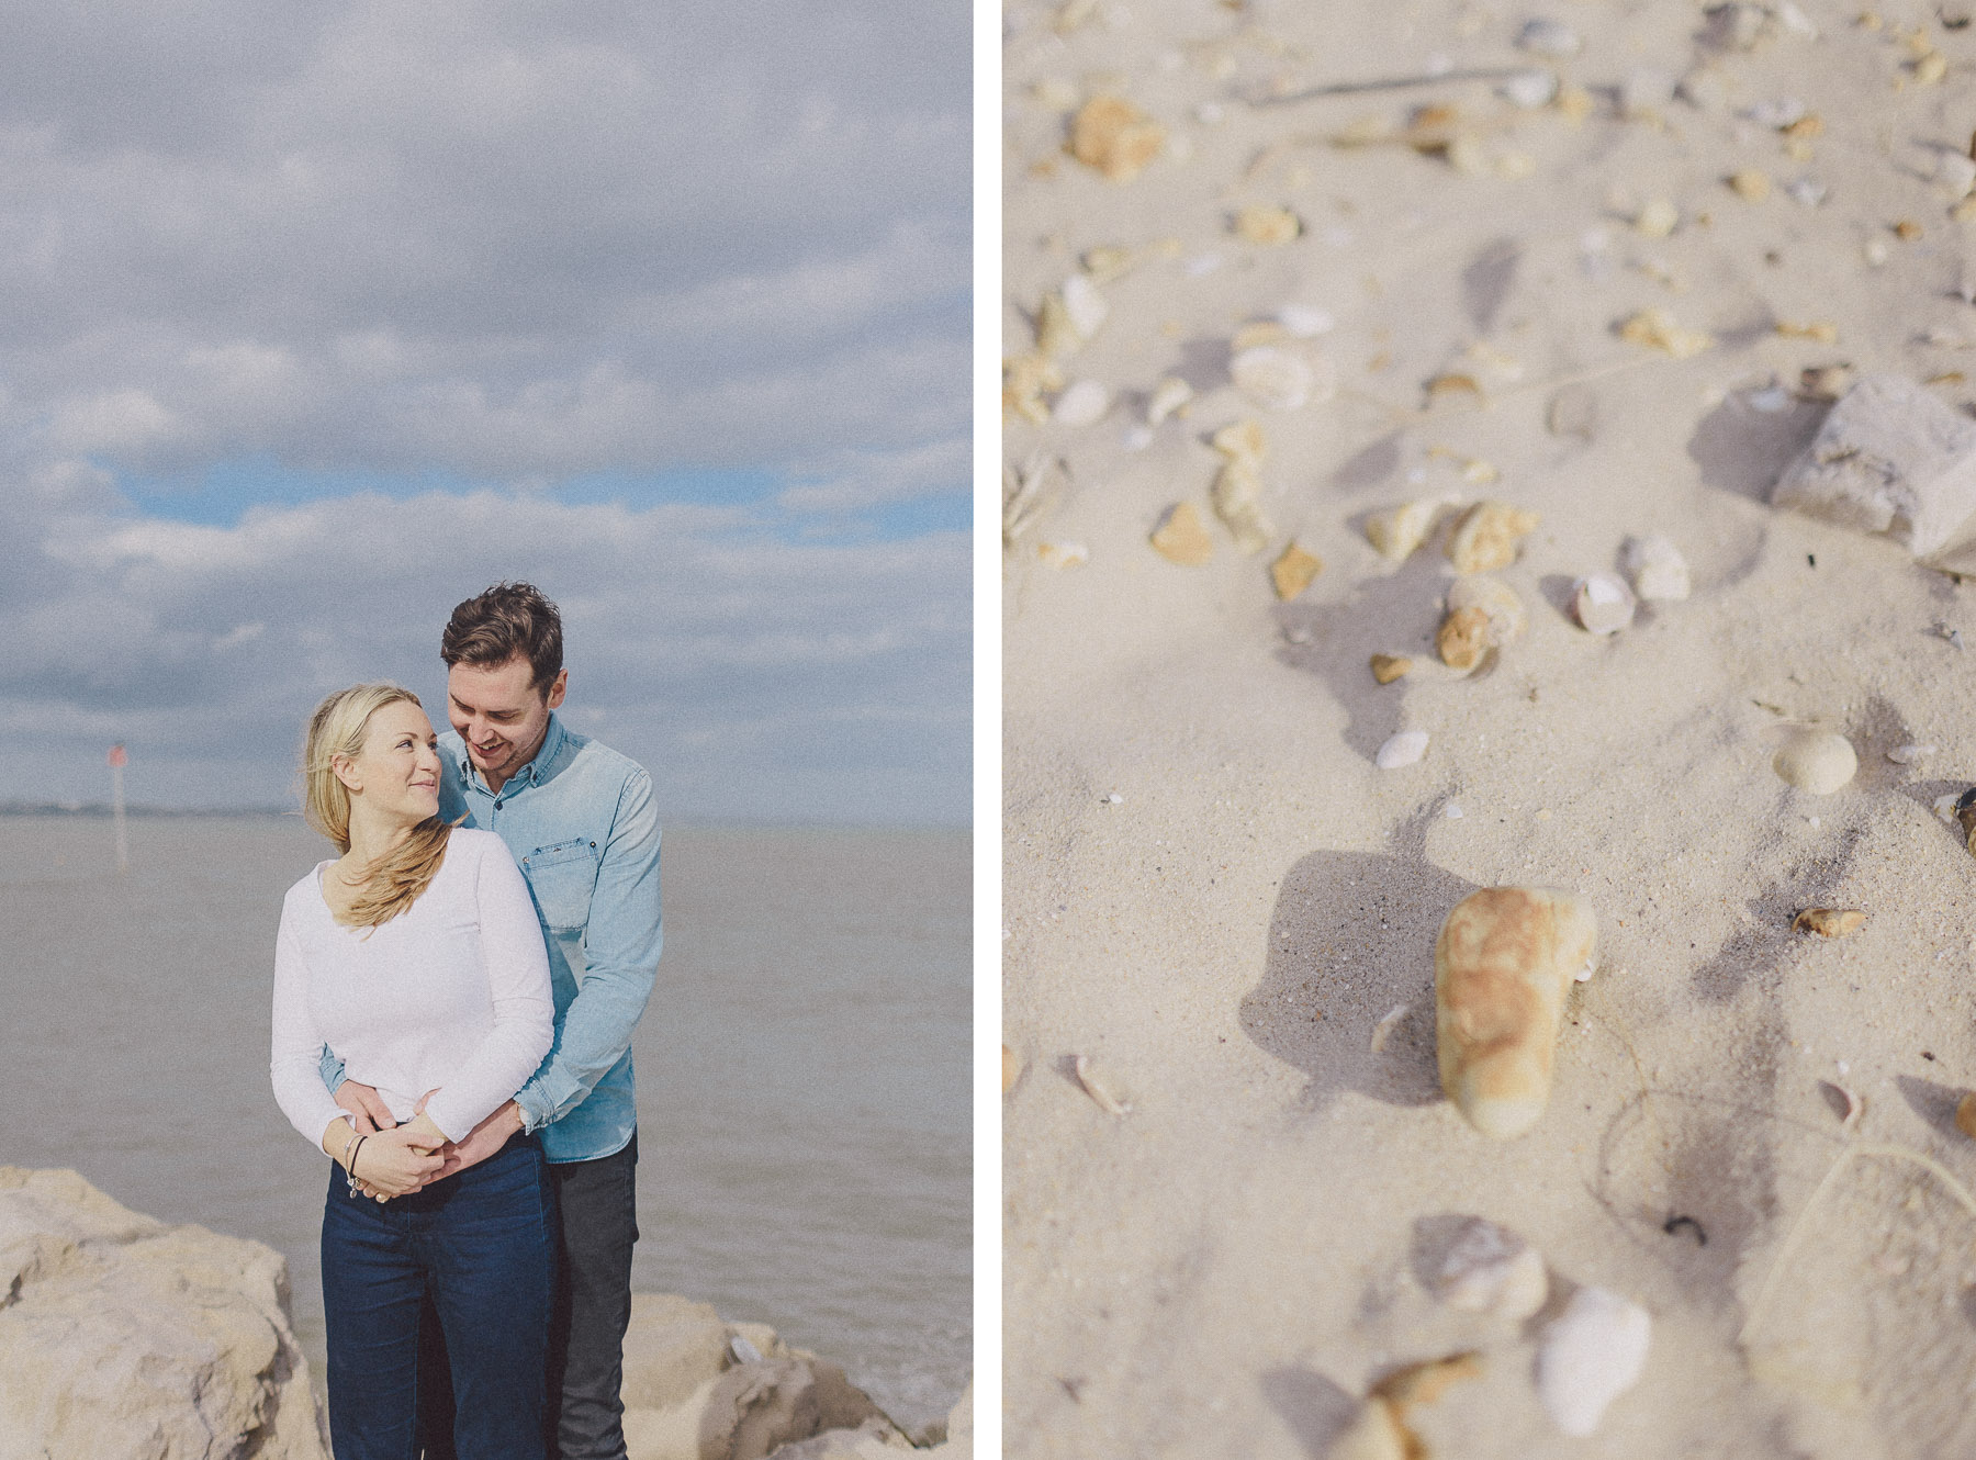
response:
<svg viewBox="0 0 1976 1460"><path fill-rule="evenodd" d="M1769 502L1859 377L1972 413L1970 12L1004 14L1004 1450L1324 1456L1476 1353L1407 1417L1433 1454L1976 1454L1976 859L1936 810L1976 589ZM1107 97L1114 176L1069 150ZM1484 500L1537 518L1490 573L1527 626L1458 672ZM1152 543L1182 504L1205 561ZM1589 632L1575 583L1650 533L1689 595ZM1772 769L1808 729L1842 788ZM1514 1140L1435 1063L1435 938L1500 885L1599 927ZM1470 1215L1541 1253L1537 1312L1437 1296ZM1581 1290L1650 1318L1589 1438L1537 1379Z"/></svg>

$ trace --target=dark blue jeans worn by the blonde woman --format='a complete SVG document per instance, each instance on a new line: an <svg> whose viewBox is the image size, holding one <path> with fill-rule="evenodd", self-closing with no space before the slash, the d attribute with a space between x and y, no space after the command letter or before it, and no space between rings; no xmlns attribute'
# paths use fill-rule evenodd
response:
<svg viewBox="0 0 1976 1460"><path fill-rule="evenodd" d="M555 1191L530 1136L383 1203L350 1197L334 1168L322 1310L336 1460L413 1460L427 1296L447 1336L458 1452L541 1460L555 1243Z"/></svg>

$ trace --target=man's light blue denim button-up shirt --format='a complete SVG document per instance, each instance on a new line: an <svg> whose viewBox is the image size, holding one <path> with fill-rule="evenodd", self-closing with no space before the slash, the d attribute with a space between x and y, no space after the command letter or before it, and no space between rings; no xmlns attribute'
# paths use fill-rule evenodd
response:
<svg viewBox="0 0 1976 1460"><path fill-rule="evenodd" d="M439 737L439 814L500 836L522 865L549 946L555 1043L516 1091L522 1128L541 1132L551 1162L624 1150L638 1122L630 1033L658 974L658 810L636 761L549 715L535 759L500 794ZM324 1051L322 1079L342 1085Z"/></svg>

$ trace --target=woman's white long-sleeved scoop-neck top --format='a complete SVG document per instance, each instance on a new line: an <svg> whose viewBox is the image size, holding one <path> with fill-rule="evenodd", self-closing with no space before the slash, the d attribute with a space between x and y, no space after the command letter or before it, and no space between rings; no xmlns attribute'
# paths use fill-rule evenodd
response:
<svg viewBox="0 0 1976 1460"><path fill-rule="evenodd" d="M405 913L375 929L336 921L322 861L281 905L275 938L275 1098L310 1146L344 1116L322 1047L373 1085L403 1124L425 1106L449 1140L508 1100L549 1053L555 1006L541 925L508 844L454 828Z"/></svg>

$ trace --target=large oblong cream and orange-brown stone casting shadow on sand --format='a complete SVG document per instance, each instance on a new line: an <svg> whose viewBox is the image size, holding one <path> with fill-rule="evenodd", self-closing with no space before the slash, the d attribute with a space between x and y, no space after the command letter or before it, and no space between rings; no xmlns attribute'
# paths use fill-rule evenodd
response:
<svg viewBox="0 0 1976 1460"><path fill-rule="evenodd" d="M1545 887L1484 887L1441 925L1441 1089L1484 1136L1522 1136L1543 1114L1565 990L1597 942L1591 903Z"/></svg>

